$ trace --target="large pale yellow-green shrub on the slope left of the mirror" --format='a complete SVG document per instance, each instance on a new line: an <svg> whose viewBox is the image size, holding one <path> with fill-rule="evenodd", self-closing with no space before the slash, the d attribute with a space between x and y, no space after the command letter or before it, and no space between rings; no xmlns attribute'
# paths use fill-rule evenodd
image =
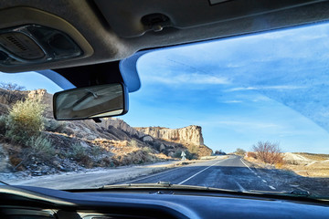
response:
<svg viewBox="0 0 329 219"><path fill-rule="evenodd" d="M17 101L6 120L5 136L12 141L26 144L43 129L42 113L45 110L39 98Z"/></svg>

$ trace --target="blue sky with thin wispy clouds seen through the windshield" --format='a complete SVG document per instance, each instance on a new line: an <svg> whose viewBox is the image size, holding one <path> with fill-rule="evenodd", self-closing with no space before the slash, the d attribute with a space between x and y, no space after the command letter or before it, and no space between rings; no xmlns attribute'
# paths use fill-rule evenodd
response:
<svg viewBox="0 0 329 219"><path fill-rule="evenodd" d="M303 26L148 53L130 94L132 126L200 125L215 150L329 153L329 25ZM0 74L27 89L60 90L37 73Z"/></svg>

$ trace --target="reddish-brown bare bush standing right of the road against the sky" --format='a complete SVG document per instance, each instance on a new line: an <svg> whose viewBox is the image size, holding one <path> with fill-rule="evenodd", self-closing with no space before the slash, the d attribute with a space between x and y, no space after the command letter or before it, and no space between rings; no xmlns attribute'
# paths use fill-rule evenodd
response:
<svg viewBox="0 0 329 219"><path fill-rule="evenodd" d="M253 145L252 148L256 153L257 159L261 162L270 164L283 163L283 153L279 143L259 141L257 144Z"/></svg>

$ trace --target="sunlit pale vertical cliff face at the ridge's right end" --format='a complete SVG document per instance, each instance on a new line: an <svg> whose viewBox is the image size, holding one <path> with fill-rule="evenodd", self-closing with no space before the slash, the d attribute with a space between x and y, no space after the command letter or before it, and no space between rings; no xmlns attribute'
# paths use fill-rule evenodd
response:
<svg viewBox="0 0 329 219"><path fill-rule="evenodd" d="M190 125L181 129L169 129L163 127L134 128L145 135L165 141L175 141L184 144L204 145L200 126Z"/></svg>

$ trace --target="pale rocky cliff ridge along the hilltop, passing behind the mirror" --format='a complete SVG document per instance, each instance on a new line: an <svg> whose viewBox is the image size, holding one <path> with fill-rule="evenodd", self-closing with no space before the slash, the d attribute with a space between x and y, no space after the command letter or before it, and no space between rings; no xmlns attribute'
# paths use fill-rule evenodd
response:
<svg viewBox="0 0 329 219"><path fill-rule="evenodd" d="M52 98L46 89L20 91L27 98L40 98L46 105L44 115L48 122L53 120ZM6 105L0 99L0 104ZM1 108L0 108L1 110ZM5 110L4 110L5 111ZM124 120L117 118L101 119L101 123L92 120L65 121L66 132L69 135L92 141L94 139L108 139L113 141L137 141L140 145L153 147L159 152L173 156L176 151L187 149L198 157L211 155L212 150L204 145L200 126L190 125L182 129L163 127L133 128Z"/></svg>

